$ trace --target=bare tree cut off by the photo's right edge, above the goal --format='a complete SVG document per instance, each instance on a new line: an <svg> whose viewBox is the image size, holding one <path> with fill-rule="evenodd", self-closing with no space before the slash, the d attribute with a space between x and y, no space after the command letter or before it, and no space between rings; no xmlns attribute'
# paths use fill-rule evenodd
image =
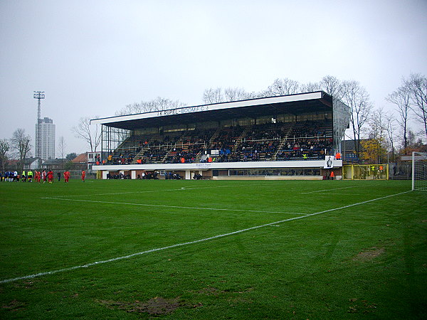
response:
<svg viewBox="0 0 427 320"><path fill-rule="evenodd" d="M405 84L411 93L411 109L423 124L427 138L427 78L413 73Z"/></svg>

